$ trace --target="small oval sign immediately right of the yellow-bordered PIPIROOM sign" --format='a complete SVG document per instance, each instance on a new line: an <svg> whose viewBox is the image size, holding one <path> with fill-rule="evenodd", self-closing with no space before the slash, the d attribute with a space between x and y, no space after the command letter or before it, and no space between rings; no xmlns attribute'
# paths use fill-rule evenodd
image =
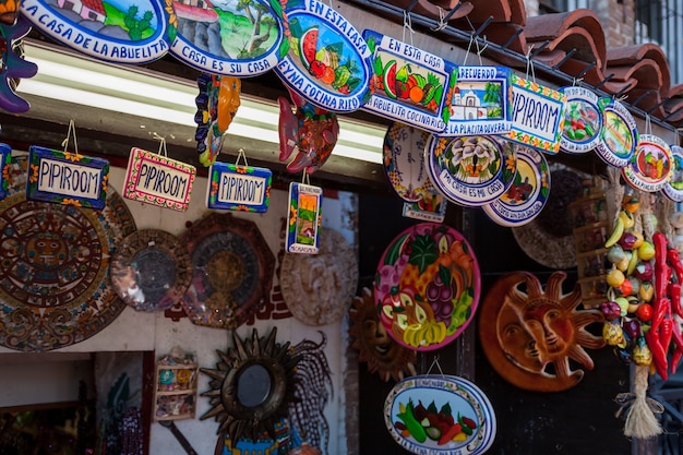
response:
<svg viewBox="0 0 683 455"><path fill-rule="evenodd" d="M561 88L561 92L566 95L566 101L560 149L568 154L591 152L600 142L602 131L598 95L576 86Z"/></svg>

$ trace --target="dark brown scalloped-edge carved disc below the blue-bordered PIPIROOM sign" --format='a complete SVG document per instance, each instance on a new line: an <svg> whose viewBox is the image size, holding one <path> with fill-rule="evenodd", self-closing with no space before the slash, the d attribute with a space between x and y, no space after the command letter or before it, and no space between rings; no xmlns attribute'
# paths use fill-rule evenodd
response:
<svg viewBox="0 0 683 455"><path fill-rule="evenodd" d="M211 213L180 241L194 271L181 303L194 324L237 328L265 302L275 256L254 223L231 213Z"/></svg>

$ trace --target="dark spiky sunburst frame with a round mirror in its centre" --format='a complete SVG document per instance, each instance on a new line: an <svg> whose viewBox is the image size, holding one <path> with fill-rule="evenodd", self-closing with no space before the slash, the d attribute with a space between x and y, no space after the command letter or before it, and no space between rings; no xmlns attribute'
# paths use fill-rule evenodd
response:
<svg viewBox="0 0 683 455"><path fill-rule="evenodd" d="M287 417L295 399L299 358L289 343L275 342L276 334L274 327L266 337L259 337L254 328L251 339L242 342L232 332L235 347L227 352L217 350L217 368L200 369L212 378L212 388L202 396L209 397L213 406L200 420L215 417L220 422L217 433L227 431L235 443L263 433L275 438L277 422Z"/></svg>

